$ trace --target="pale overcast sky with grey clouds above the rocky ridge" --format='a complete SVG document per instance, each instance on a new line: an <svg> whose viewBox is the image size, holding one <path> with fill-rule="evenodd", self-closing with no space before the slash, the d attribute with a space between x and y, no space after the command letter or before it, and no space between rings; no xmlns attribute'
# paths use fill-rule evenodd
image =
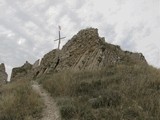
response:
<svg viewBox="0 0 160 120"><path fill-rule="evenodd" d="M160 0L0 0L0 63L10 74L61 47L79 30L98 28L106 42L141 52L160 68Z"/></svg>

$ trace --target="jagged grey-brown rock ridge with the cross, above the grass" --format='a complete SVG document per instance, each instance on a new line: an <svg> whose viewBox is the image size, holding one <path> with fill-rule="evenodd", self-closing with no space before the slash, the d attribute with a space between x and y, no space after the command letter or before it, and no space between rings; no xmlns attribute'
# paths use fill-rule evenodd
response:
<svg viewBox="0 0 160 120"><path fill-rule="evenodd" d="M73 36L61 50L54 49L44 55L41 62L38 60L34 65L26 63L14 68L11 80L26 75L36 78L63 70L94 71L121 63L147 64L141 53L123 51L119 46L106 43L105 38L99 36L98 29L87 28Z"/></svg>

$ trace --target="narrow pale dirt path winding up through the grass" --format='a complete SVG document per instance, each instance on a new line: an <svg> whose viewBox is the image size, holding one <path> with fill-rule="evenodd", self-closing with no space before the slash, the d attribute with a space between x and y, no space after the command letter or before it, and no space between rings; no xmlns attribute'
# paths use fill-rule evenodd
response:
<svg viewBox="0 0 160 120"><path fill-rule="evenodd" d="M45 108L43 110L43 117L41 120L61 120L56 103L53 98L45 91L38 83L33 82L33 90L35 90L44 100Z"/></svg>

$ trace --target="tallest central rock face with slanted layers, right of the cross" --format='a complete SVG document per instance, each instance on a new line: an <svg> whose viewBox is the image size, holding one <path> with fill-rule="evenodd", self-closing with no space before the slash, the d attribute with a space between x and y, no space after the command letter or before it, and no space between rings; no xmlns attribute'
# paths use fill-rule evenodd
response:
<svg viewBox="0 0 160 120"><path fill-rule="evenodd" d="M62 48L57 70L98 69L101 66L98 59L102 56L103 44L104 40L99 37L97 29L81 30Z"/></svg>

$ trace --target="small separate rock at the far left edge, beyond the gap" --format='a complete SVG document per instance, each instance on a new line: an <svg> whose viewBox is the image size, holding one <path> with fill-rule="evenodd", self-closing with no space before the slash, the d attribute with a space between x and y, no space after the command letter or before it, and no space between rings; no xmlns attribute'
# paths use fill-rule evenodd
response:
<svg viewBox="0 0 160 120"><path fill-rule="evenodd" d="M0 85L5 84L7 82L7 73L5 69L4 63L0 64Z"/></svg>

